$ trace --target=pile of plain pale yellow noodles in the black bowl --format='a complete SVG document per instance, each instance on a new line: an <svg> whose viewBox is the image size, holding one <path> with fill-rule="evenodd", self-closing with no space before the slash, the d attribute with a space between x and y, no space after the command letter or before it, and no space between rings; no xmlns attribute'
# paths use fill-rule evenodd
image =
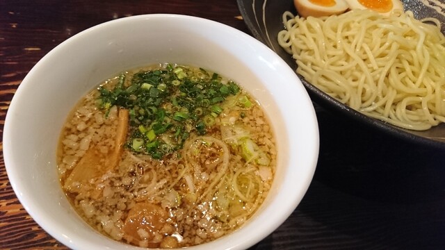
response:
<svg viewBox="0 0 445 250"><path fill-rule="evenodd" d="M437 19L397 10L282 18L280 46L296 59L296 72L323 92L401 128L445 122L445 37Z"/></svg>

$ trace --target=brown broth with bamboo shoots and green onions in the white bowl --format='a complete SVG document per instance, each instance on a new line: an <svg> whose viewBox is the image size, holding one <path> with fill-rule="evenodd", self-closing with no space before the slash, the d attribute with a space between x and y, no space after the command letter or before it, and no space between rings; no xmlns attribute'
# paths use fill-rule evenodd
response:
<svg viewBox="0 0 445 250"><path fill-rule="evenodd" d="M268 119L237 86L165 64L92 90L58 147L61 185L77 213L140 247L193 246L241 226L266 198L276 151ZM138 102L144 91L152 104Z"/></svg>

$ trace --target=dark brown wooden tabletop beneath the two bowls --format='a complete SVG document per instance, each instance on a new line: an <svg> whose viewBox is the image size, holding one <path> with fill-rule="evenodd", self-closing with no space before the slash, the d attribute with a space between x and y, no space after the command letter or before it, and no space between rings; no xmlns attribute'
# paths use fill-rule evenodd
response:
<svg viewBox="0 0 445 250"><path fill-rule="evenodd" d="M15 90L47 52L96 24L147 13L205 17L249 33L235 0L0 0L0 138ZM317 115L314 181L291 217L252 249L445 249L445 152ZM67 249L19 203L3 153L0 249Z"/></svg>

